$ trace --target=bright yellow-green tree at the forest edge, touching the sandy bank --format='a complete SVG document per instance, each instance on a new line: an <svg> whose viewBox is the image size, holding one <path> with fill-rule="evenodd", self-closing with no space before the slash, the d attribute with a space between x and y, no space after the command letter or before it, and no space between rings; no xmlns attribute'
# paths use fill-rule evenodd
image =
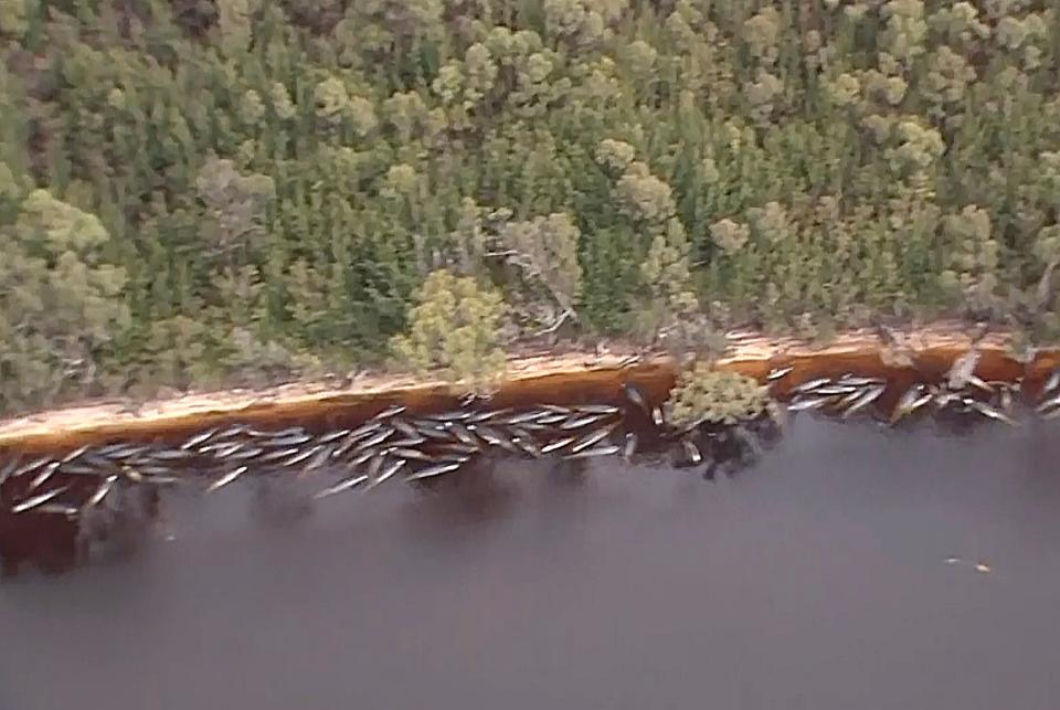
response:
<svg viewBox="0 0 1060 710"><path fill-rule="evenodd" d="M394 336L400 362L470 390L488 390L504 375L500 295L447 269L432 273L416 294L407 335Z"/></svg>

